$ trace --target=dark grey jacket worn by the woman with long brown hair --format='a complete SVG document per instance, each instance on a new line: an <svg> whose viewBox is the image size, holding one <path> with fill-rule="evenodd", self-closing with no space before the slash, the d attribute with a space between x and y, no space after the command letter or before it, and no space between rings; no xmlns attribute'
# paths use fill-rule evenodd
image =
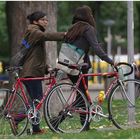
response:
<svg viewBox="0 0 140 140"><path fill-rule="evenodd" d="M80 22L81 21L79 21L78 24L80 24ZM83 24L83 22L82 22L82 24ZM69 42L69 43L77 46L78 48L83 49L85 51L85 53L86 53L86 56L84 58L84 62L89 63L90 66L91 66L91 64L90 64L90 60L89 60L89 56L88 56L88 52L89 52L90 48L102 60L106 61L109 64L114 64L113 60L110 59L107 56L107 54L103 51L103 49L101 48L100 44L98 43L94 27L89 25L86 22L85 22L85 24L86 24L86 27L85 27L85 30L84 30L84 32L83 32L83 34L81 36L79 36L74 41L66 40L66 42Z"/></svg>

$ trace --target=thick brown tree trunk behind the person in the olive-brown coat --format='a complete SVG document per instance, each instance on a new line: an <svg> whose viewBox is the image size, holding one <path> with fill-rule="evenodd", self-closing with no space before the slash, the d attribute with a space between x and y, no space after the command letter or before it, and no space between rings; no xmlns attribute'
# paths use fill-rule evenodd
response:
<svg viewBox="0 0 140 140"><path fill-rule="evenodd" d="M27 15L43 11L47 14L49 21L47 31L55 32L57 28L57 2L55 1L8 1L6 2L7 24L9 32L9 44L11 48L11 57L20 49L21 40L24 35L27 22ZM56 63L57 48L56 42L46 42L47 63L53 67ZM50 62L51 60L51 62Z"/></svg>

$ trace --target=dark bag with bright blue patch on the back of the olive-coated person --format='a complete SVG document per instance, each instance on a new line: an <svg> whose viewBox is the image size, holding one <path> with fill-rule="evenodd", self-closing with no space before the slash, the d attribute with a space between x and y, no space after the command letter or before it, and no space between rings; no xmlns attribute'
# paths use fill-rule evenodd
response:
<svg viewBox="0 0 140 140"><path fill-rule="evenodd" d="M23 46L22 49L17 52L16 55L14 55L11 59L11 64L13 66L23 66L25 56L31 47L25 39L22 40L21 45Z"/></svg>

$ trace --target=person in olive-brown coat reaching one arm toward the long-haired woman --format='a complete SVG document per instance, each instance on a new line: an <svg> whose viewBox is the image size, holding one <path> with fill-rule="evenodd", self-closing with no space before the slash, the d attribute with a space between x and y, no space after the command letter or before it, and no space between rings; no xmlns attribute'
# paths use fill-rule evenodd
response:
<svg viewBox="0 0 140 140"><path fill-rule="evenodd" d="M30 48L24 58L23 69L20 72L21 77L41 77L47 71L45 41L60 41L64 39L64 32L47 33L45 29L48 25L46 14L36 11L27 16L30 24L24 35L24 39L30 45ZM22 46L24 47L24 46ZM43 97L41 80L25 81L25 87L31 97L41 100ZM32 125L33 134L43 133L38 125Z"/></svg>

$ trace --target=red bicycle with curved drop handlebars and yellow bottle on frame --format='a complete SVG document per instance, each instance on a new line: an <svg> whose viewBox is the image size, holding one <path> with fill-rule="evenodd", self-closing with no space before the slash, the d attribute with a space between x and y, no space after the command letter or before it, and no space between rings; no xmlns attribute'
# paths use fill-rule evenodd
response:
<svg viewBox="0 0 140 140"><path fill-rule="evenodd" d="M140 124L140 81L127 77L133 72L133 65L119 63L117 67L113 67L112 72L91 74L82 74L81 69L87 66L85 63L77 65L63 63L63 65L79 70L80 76L77 83L60 83L49 92L44 107L45 119L52 131L79 133L84 130L88 122L100 121L103 117L112 121L119 129L132 127L132 124ZM89 76L113 78L106 93L97 95L94 100L85 84L85 77ZM86 96L80 90L81 81ZM134 89L133 96L129 92L131 88ZM54 100L55 104L53 104ZM107 114L102 108L103 102L106 102ZM132 115L131 120L128 114Z"/></svg>

